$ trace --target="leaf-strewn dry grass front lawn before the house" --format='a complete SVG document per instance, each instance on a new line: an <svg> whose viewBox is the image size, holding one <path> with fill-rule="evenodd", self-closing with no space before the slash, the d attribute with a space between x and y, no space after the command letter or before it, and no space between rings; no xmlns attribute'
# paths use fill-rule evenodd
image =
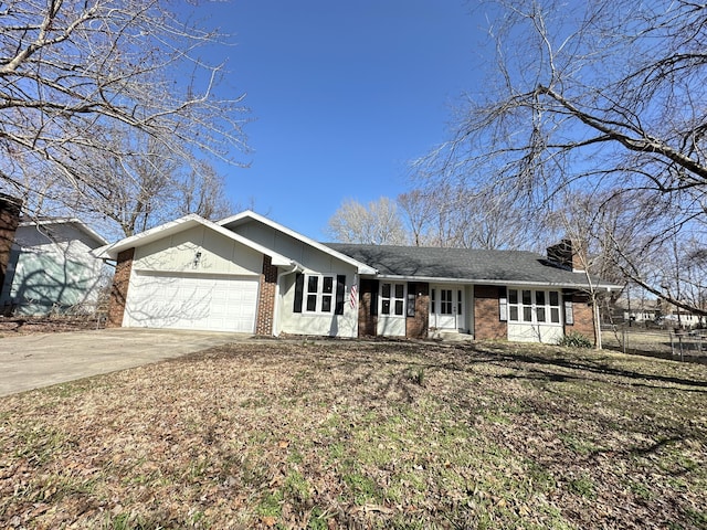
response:
<svg viewBox="0 0 707 530"><path fill-rule="evenodd" d="M707 528L707 367L263 341L0 399L1 528Z"/></svg>

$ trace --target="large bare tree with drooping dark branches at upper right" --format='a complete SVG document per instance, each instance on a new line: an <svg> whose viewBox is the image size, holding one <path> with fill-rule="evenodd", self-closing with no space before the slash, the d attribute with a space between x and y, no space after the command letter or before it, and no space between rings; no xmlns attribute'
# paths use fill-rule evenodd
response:
<svg viewBox="0 0 707 530"><path fill-rule="evenodd" d="M562 190L636 192L642 233L612 242L615 262L643 288L700 312L642 261L669 241L705 247L707 7L570 3L483 4L495 68L482 94L467 95L456 136L420 166L527 210L557 208Z"/></svg>

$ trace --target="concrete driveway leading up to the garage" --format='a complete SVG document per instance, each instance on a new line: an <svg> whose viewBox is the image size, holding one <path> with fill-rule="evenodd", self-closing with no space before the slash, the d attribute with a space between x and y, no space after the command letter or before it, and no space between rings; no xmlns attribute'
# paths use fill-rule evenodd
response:
<svg viewBox="0 0 707 530"><path fill-rule="evenodd" d="M116 328L0 338L0 396L172 359L247 337Z"/></svg>

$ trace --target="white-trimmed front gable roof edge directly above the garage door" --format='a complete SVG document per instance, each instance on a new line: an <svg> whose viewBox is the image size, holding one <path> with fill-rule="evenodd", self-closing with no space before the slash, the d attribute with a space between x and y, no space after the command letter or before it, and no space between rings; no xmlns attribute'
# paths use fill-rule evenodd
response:
<svg viewBox="0 0 707 530"><path fill-rule="evenodd" d="M273 265L283 265L283 266L292 266L295 263L288 257L283 256L276 252L273 252L271 248L266 248L257 243L243 237L242 235L236 234L235 232L231 232L230 230L220 226L219 224L208 221L196 213L190 213L189 215L184 215L183 218L179 218L176 221L170 221L165 224L160 224L159 226L155 226L154 229L147 230L136 235L131 235L129 237L125 237L112 245L106 245L102 248L96 248L94 251L94 255L102 258L116 259L118 254L128 248L143 246L154 241L161 240L162 237L167 237L169 235L178 234L186 230L192 229L194 226L205 226L219 234L229 237L238 243L241 243L250 248L253 248L256 252L262 254L266 254L272 257Z"/></svg>

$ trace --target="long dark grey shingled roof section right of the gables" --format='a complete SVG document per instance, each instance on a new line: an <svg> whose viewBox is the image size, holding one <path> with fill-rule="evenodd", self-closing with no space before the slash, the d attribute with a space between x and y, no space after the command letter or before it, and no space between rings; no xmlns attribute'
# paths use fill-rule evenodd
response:
<svg viewBox="0 0 707 530"><path fill-rule="evenodd" d="M374 267L379 277L489 285L588 287L585 273L568 271L534 252L347 243L327 243L327 246ZM620 287L598 278L592 278L592 284L606 289Z"/></svg>

